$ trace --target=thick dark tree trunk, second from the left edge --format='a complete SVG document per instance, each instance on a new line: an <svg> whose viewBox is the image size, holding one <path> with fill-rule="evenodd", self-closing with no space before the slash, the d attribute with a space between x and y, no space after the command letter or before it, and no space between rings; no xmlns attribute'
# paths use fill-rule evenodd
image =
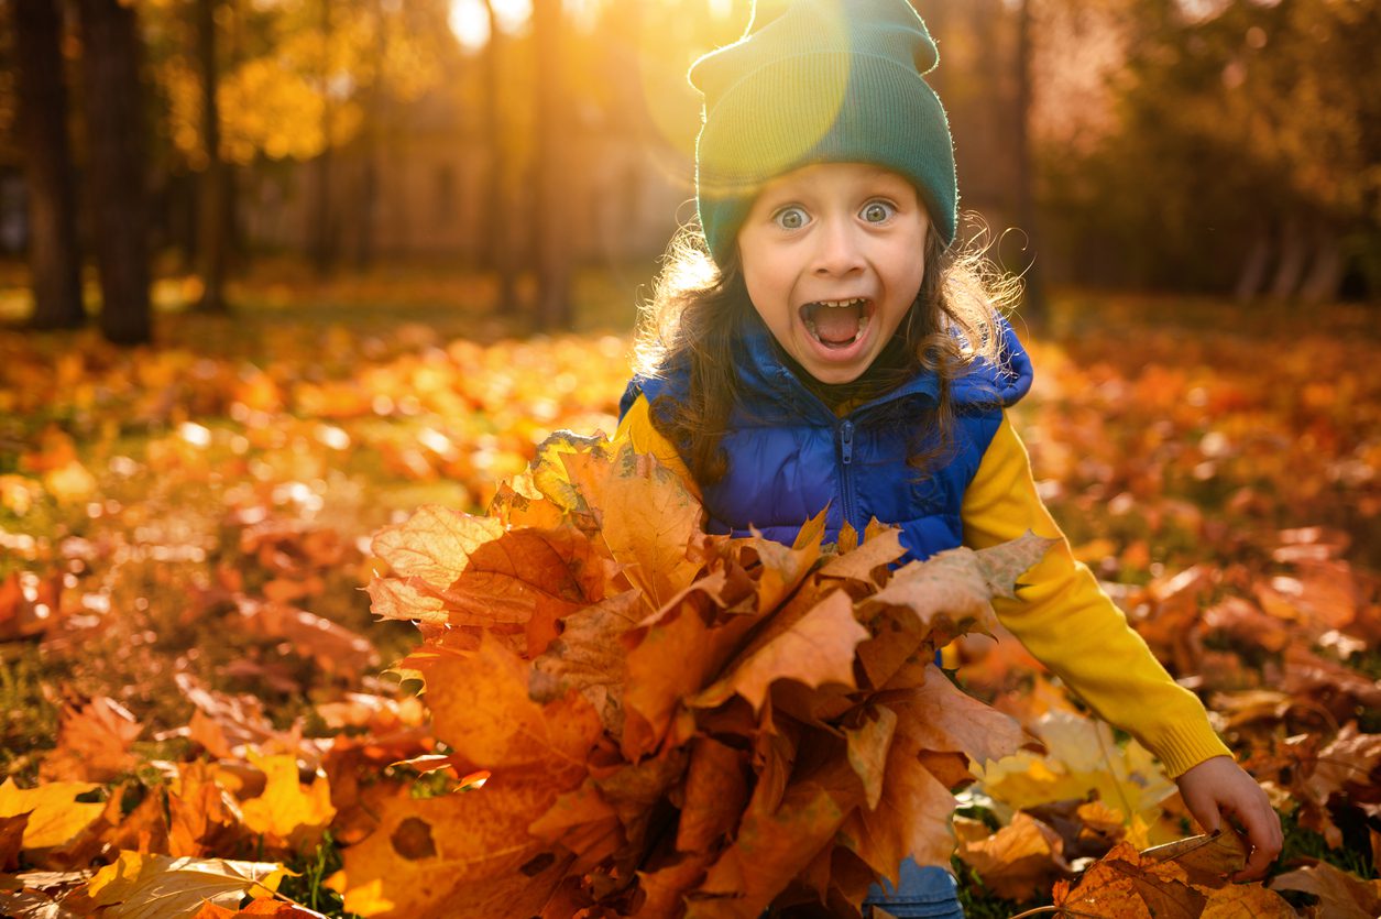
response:
<svg viewBox="0 0 1381 919"><path fill-rule="evenodd" d="M101 332L116 344L139 344L149 340L152 316L138 28L134 7L119 0L77 0L77 10Z"/></svg>

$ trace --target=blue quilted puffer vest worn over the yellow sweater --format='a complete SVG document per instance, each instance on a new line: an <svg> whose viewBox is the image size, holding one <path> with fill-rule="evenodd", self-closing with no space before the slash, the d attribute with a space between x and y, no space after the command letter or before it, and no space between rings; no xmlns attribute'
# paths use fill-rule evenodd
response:
<svg viewBox="0 0 1381 919"><path fill-rule="evenodd" d="M707 529L747 536L755 527L769 539L791 543L801 525L827 506L827 542L838 539L845 521L862 533L876 517L902 528L902 543L914 558L961 544L964 491L997 433L1003 406L1022 398L1032 384L1026 350L1007 322L1000 330L998 366L981 361L950 387L953 442L938 468L923 477L906 464L917 431L898 417L918 417L935 404L934 373L918 373L838 417L782 362L771 333L753 316L739 358L744 399L724 438L729 471L703 489ZM639 394L656 413L657 398L681 399L686 384L684 368L657 379L634 379L620 415Z"/></svg>

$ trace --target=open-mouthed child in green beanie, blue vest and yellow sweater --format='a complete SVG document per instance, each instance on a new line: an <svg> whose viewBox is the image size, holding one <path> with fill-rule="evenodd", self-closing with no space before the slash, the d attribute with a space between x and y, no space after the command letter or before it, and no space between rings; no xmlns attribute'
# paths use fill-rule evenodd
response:
<svg viewBox="0 0 1381 919"><path fill-rule="evenodd" d="M917 558L1061 536L1005 413L1032 381L997 311L1011 286L952 249L953 145L923 79L936 62L906 0L795 0L690 69L703 242L671 246L619 437L697 488L711 532L790 543L829 506L827 539L877 517ZM1062 536L1023 582L1004 625L1160 757L1206 829L1235 815L1253 846L1240 876L1261 876L1279 818L1199 701ZM867 902L963 915L953 879L910 861Z"/></svg>

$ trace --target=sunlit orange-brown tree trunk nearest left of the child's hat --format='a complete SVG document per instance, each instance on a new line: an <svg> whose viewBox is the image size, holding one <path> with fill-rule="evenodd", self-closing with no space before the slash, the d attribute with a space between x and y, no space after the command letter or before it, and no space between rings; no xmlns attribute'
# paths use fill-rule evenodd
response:
<svg viewBox="0 0 1381 919"><path fill-rule="evenodd" d="M569 176L562 155L570 138L561 100L561 0L533 0L532 21L537 47L536 326L541 332L555 332L572 325L569 228L563 206Z"/></svg>

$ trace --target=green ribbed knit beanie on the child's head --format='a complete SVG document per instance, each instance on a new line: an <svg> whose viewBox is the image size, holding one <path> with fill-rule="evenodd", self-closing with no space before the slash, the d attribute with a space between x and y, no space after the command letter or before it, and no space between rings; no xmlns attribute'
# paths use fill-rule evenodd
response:
<svg viewBox="0 0 1381 919"><path fill-rule="evenodd" d="M906 176L953 242L954 145L921 76L939 53L911 6L794 0L768 22L764 6L757 1L744 37L689 73L704 94L696 205L715 263L733 252L762 184L811 163L873 163Z"/></svg>

